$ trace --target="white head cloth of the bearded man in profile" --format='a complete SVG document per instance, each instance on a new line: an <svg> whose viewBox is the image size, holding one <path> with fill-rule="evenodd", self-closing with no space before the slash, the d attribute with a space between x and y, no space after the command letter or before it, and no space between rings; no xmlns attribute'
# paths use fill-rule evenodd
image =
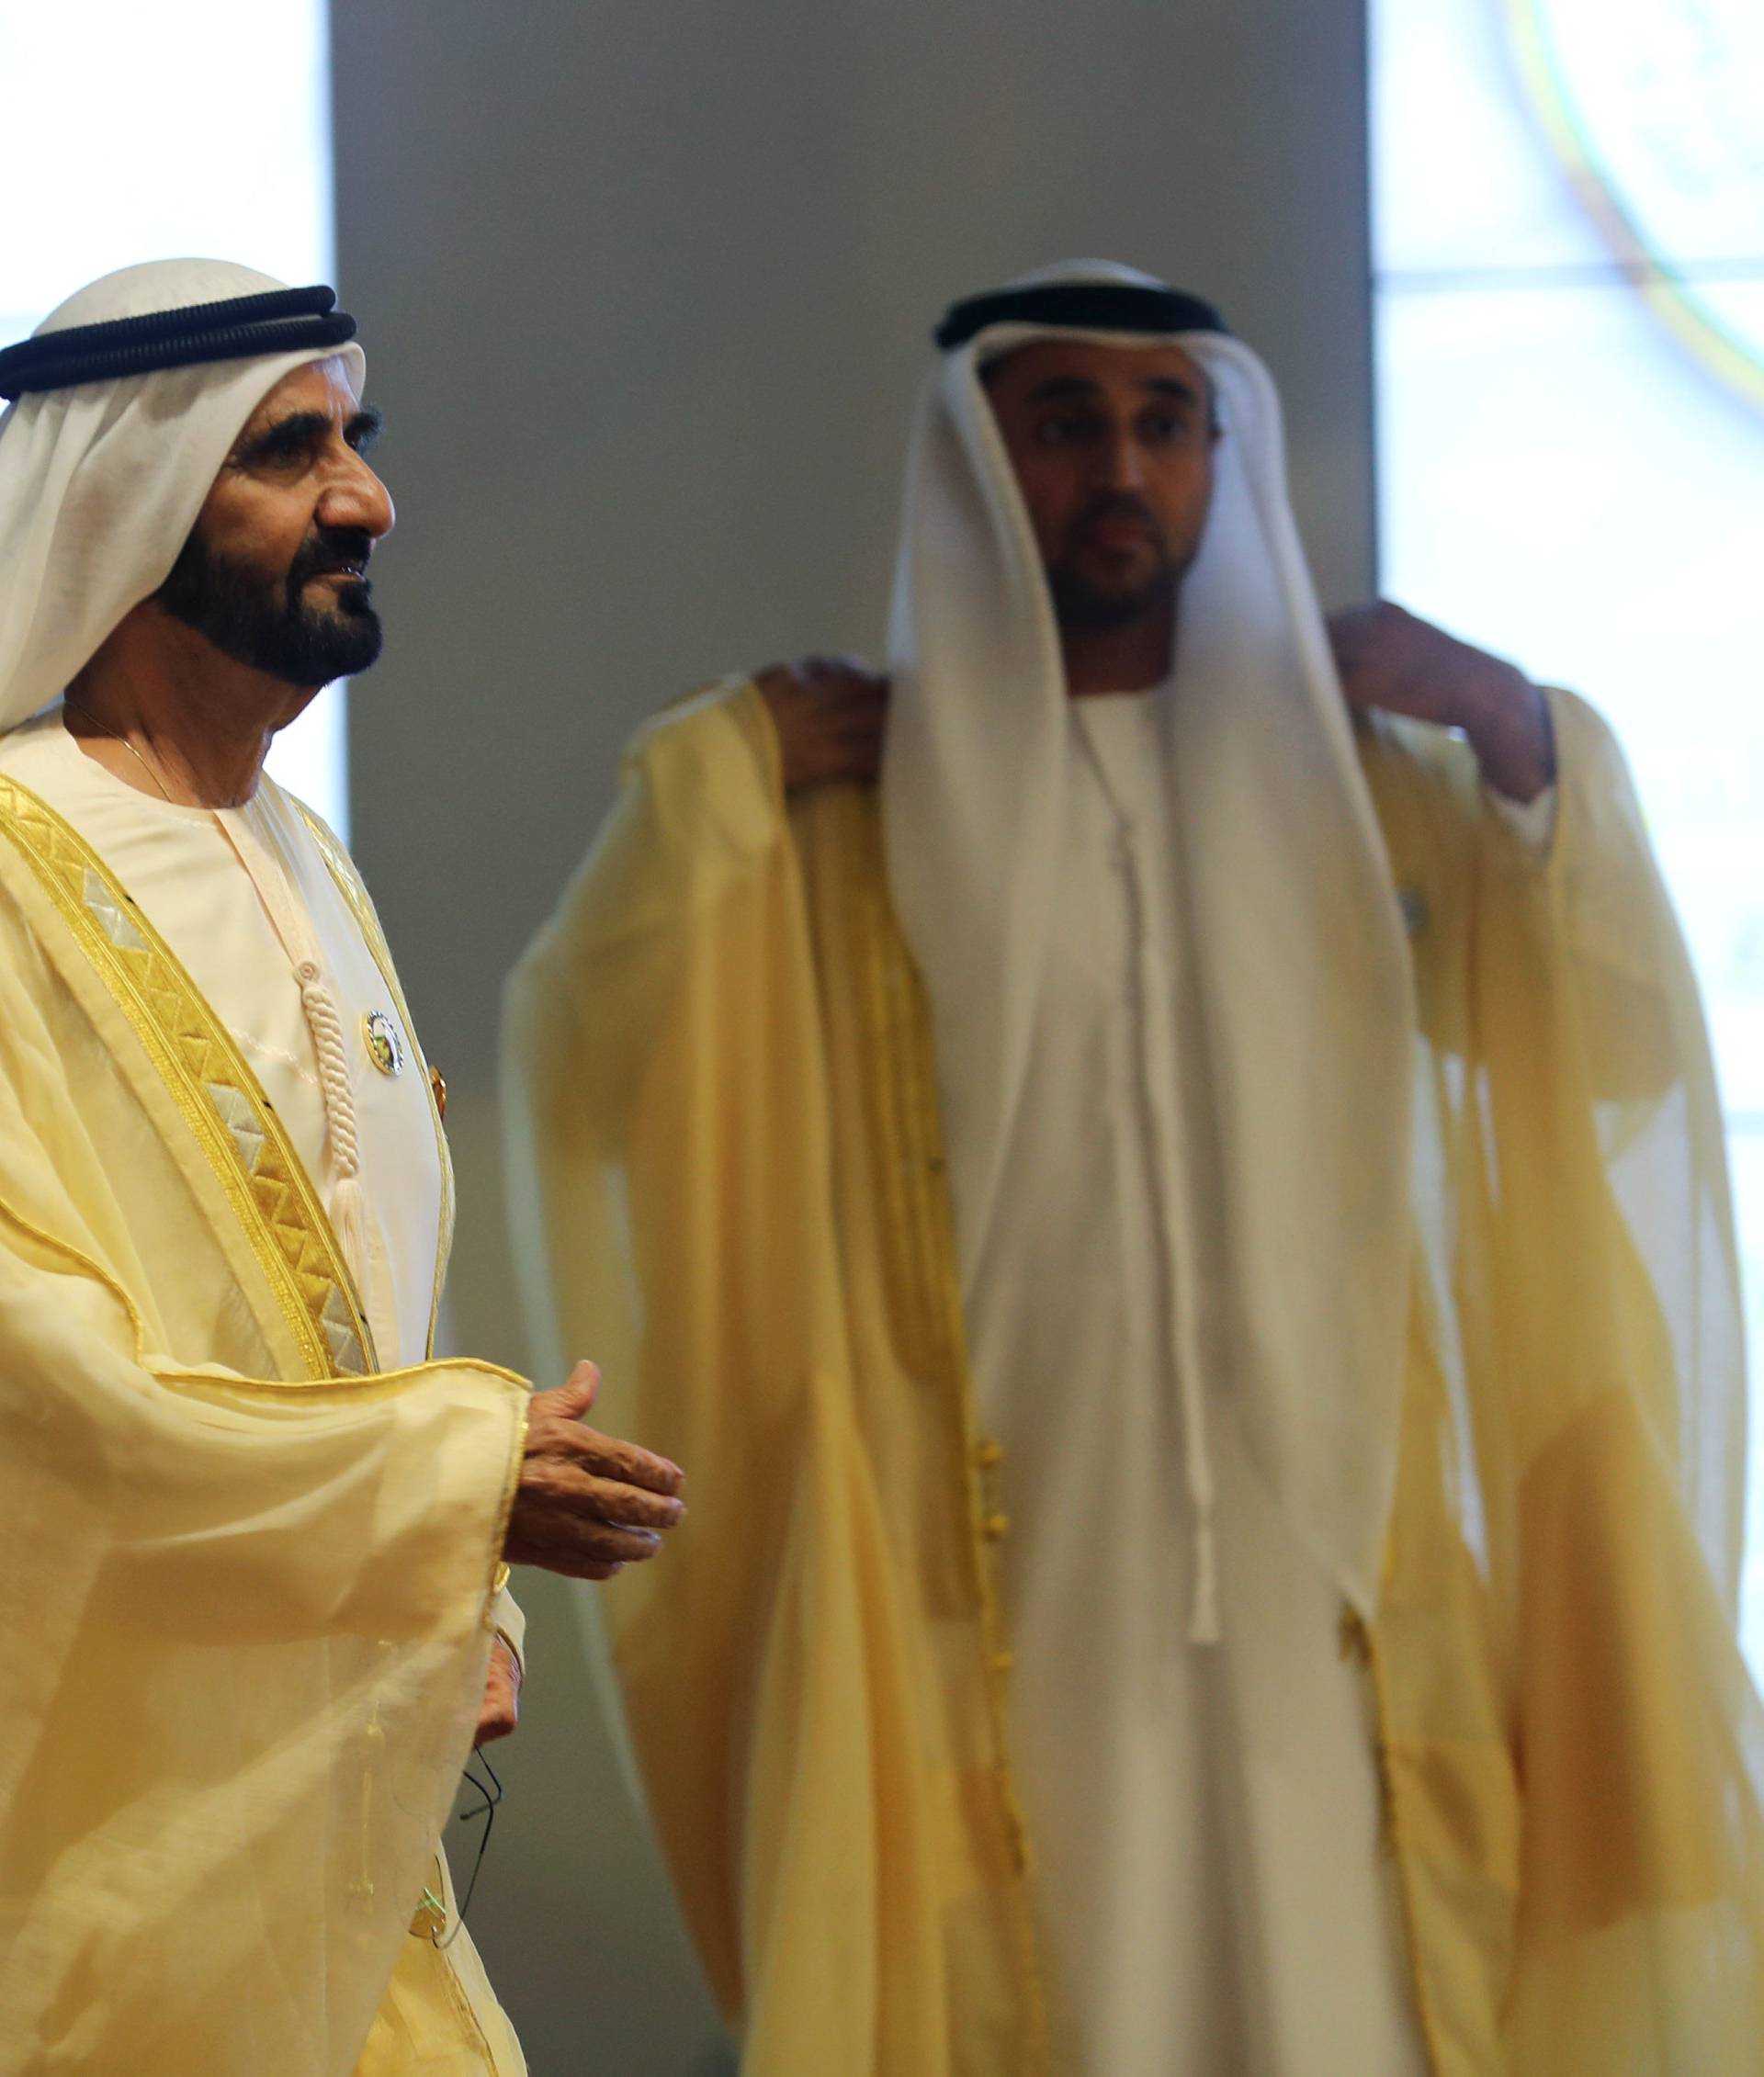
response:
<svg viewBox="0 0 1764 2077"><path fill-rule="evenodd" d="M154 260L71 295L31 334L283 291L226 260ZM357 345L251 351L27 390L0 417L0 729L56 698L170 575L239 428L295 368Z"/></svg>

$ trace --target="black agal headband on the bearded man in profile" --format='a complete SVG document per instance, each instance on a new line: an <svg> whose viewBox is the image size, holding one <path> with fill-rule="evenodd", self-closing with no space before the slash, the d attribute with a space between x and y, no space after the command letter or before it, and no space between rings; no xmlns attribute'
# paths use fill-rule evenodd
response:
<svg viewBox="0 0 1764 2077"><path fill-rule="evenodd" d="M0 397L25 390L73 388L75 382L112 382L156 368L193 368L199 361L243 361L258 353L297 353L301 347L341 347L355 336L355 320L337 309L337 291L270 289L231 295L220 303L185 303L150 309L141 318L106 324L71 324L39 332L0 351Z"/></svg>

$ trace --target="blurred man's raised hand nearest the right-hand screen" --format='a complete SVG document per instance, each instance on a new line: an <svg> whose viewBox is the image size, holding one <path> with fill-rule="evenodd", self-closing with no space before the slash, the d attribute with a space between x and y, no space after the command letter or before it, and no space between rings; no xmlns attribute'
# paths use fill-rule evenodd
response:
<svg viewBox="0 0 1764 2077"><path fill-rule="evenodd" d="M1459 642L1380 598L1330 615L1342 692L1369 706L1463 729L1484 779L1508 800L1535 800L1556 777L1550 702L1511 663Z"/></svg>

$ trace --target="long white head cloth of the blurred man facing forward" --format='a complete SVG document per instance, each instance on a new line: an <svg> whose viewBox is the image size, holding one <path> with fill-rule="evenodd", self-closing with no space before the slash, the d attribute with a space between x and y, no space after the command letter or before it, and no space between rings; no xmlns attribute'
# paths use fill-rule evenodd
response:
<svg viewBox="0 0 1764 2077"><path fill-rule="evenodd" d="M1026 276L1166 289L1107 262ZM995 1215L1060 856L1066 679L1053 606L981 368L1041 336L1180 345L1222 438L1180 594L1166 773L1178 914L1199 974L1247 1444L1363 1614L1378 1601L1409 1315L1411 978L1384 841L1286 498L1280 403L1213 330L989 324L947 351L912 440L889 669L883 816L925 972L964 1275ZM1178 1188L1195 1190L1195 1178Z"/></svg>

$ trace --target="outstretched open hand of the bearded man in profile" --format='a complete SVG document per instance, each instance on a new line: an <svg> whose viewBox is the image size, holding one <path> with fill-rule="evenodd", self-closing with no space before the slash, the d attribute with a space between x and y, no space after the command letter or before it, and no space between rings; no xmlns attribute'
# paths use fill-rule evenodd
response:
<svg viewBox="0 0 1764 2077"><path fill-rule="evenodd" d="M600 1373L578 1363L555 1392L536 1392L503 1556L571 1579L611 1579L654 1558L686 1508L684 1473L665 1456L582 1425Z"/></svg>

